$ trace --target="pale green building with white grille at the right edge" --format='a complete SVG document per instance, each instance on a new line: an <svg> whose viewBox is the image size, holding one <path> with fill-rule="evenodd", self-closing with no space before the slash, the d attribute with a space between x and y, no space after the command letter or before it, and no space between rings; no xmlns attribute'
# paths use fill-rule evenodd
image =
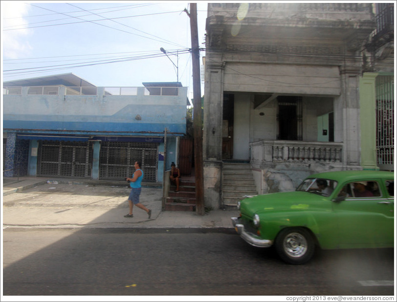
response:
<svg viewBox="0 0 397 302"><path fill-rule="evenodd" d="M376 161L379 169L394 170L395 7L375 3L373 9L375 29L365 43L360 79L361 131L367 134L361 140L361 163L367 168Z"/></svg>

